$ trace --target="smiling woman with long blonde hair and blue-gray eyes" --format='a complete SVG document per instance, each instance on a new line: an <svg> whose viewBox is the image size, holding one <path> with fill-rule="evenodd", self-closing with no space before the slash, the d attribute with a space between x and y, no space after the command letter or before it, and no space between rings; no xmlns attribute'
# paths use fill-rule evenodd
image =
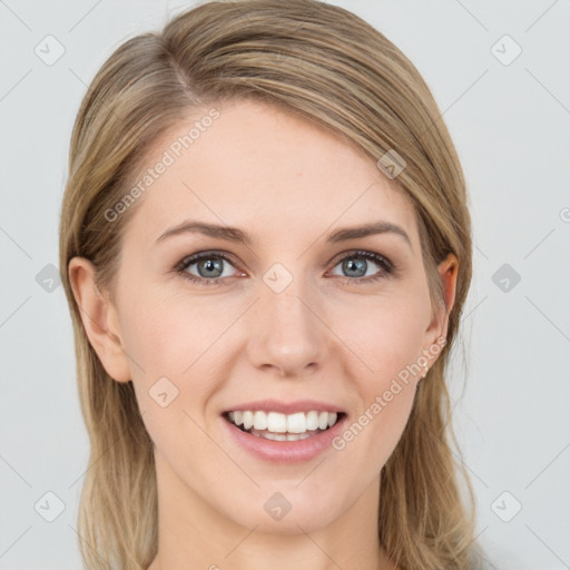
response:
<svg viewBox="0 0 570 570"><path fill-rule="evenodd" d="M86 567L479 568L466 199L420 73L344 9L208 2L120 46L60 233Z"/></svg>

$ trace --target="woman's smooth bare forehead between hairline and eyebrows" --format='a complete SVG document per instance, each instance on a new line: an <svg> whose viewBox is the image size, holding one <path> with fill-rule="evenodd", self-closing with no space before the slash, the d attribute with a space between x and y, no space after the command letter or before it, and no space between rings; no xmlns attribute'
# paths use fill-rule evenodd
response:
<svg viewBox="0 0 570 570"><path fill-rule="evenodd" d="M188 112L149 150L137 181L144 176L148 187L128 229L141 239L188 217L264 238L385 219L415 239L410 199L373 159L324 127L257 101Z"/></svg>

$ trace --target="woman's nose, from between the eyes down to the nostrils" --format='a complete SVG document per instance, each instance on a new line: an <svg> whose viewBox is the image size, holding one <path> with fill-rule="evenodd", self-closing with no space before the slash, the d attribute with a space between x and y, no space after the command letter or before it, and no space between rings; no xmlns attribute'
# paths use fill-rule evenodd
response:
<svg viewBox="0 0 570 570"><path fill-rule="evenodd" d="M326 326L317 303L294 279L276 293L262 287L261 298L249 312L249 362L279 377L302 377L315 373L326 356Z"/></svg>

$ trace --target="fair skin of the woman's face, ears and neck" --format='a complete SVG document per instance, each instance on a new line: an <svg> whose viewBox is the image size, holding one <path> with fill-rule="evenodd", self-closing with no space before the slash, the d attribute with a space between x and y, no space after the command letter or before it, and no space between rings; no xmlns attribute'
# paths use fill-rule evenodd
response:
<svg viewBox="0 0 570 570"><path fill-rule="evenodd" d="M432 311L412 205L397 179L330 131L259 102L216 108L220 117L139 198L112 295L96 289L87 259L69 265L89 340L112 379L132 380L155 443L159 549L149 568L393 569L377 541L379 474L423 371L342 451L307 462L254 458L220 413L266 397L311 399L354 421L445 336L449 313ZM183 122L158 140L148 166L187 130ZM255 240L186 233L156 243L187 218L244 228ZM379 219L404 228L411 246L391 233L325 243L335 229ZM174 271L212 249L233 258L222 262L218 285ZM387 257L399 275L365 283L384 272L367 261L365 276L352 276L342 262L357 249ZM277 262L293 276L281 293L263 281ZM439 271L451 309L456 258ZM163 376L178 389L166 407L148 394ZM275 492L292 504L281 521L264 510Z"/></svg>

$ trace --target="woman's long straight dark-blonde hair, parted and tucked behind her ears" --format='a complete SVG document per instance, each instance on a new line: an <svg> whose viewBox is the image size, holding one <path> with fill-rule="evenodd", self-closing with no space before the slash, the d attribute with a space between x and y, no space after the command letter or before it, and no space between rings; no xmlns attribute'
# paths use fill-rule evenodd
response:
<svg viewBox="0 0 570 570"><path fill-rule="evenodd" d="M200 2L170 17L160 31L120 45L82 99L61 208L60 267L90 440L78 514L86 568L149 566L158 546L157 485L132 382L110 377L90 345L68 264L75 256L89 259L97 286L112 295L121 236L140 200L112 223L105 213L124 198L148 149L168 129L198 109L245 99L324 127L374 161L390 150L404 157L393 181L413 205L433 307L448 309L438 264L449 253L459 259L448 342L420 382L381 472L379 541L402 570L475 568L474 497L453 456L458 444L444 381L472 274L464 176L412 62L371 24L316 0Z"/></svg>

